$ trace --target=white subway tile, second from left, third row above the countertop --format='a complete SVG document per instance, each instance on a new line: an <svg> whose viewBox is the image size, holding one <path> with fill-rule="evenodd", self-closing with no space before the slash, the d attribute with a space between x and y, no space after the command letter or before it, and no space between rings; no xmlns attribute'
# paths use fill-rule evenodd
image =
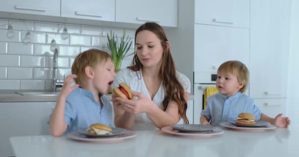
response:
<svg viewBox="0 0 299 157"><path fill-rule="evenodd" d="M45 67L45 56L22 55L21 67Z"/></svg>

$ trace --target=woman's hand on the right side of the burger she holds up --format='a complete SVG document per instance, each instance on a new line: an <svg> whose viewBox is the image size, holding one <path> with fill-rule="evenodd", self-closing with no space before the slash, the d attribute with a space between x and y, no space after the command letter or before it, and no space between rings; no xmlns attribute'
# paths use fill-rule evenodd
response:
<svg viewBox="0 0 299 157"><path fill-rule="evenodd" d="M132 91L133 96L137 97L136 100L128 100L122 98L116 98L122 107L131 113L147 113L149 111L149 107L154 105L153 102L144 94Z"/></svg>

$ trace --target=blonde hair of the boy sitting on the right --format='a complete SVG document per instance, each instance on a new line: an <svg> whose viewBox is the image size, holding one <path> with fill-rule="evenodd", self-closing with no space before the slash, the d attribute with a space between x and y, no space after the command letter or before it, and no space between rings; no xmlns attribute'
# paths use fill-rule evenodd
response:
<svg viewBox="0 0 299 157"><path fill-rule="evenodd" d="M239 90L244 93L249 83L249 71L245 64L238 60L230 60L222 63L218 68L217 73L236 74L239 83L244 83L243 87Z"/></svg>

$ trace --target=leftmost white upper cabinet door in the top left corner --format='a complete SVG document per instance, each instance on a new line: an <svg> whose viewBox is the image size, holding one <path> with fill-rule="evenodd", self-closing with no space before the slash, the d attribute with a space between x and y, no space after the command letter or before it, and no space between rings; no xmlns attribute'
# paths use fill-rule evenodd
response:
<svg viewBox="0 0 299 157"><path fill-rule="evenodd" d="M60 16L60 0L5 0L0 11Z"/></svg>

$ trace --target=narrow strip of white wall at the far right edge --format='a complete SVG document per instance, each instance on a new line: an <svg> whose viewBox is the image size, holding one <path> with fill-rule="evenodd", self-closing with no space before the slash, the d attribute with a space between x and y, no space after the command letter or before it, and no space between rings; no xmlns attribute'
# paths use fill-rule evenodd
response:
<svg viewBox="0 0 299 157"><path fill-rule="evenodd" d="M290 58L288 76L287 115L292 125L299 124L299 0L293 0Z"/></svg>

